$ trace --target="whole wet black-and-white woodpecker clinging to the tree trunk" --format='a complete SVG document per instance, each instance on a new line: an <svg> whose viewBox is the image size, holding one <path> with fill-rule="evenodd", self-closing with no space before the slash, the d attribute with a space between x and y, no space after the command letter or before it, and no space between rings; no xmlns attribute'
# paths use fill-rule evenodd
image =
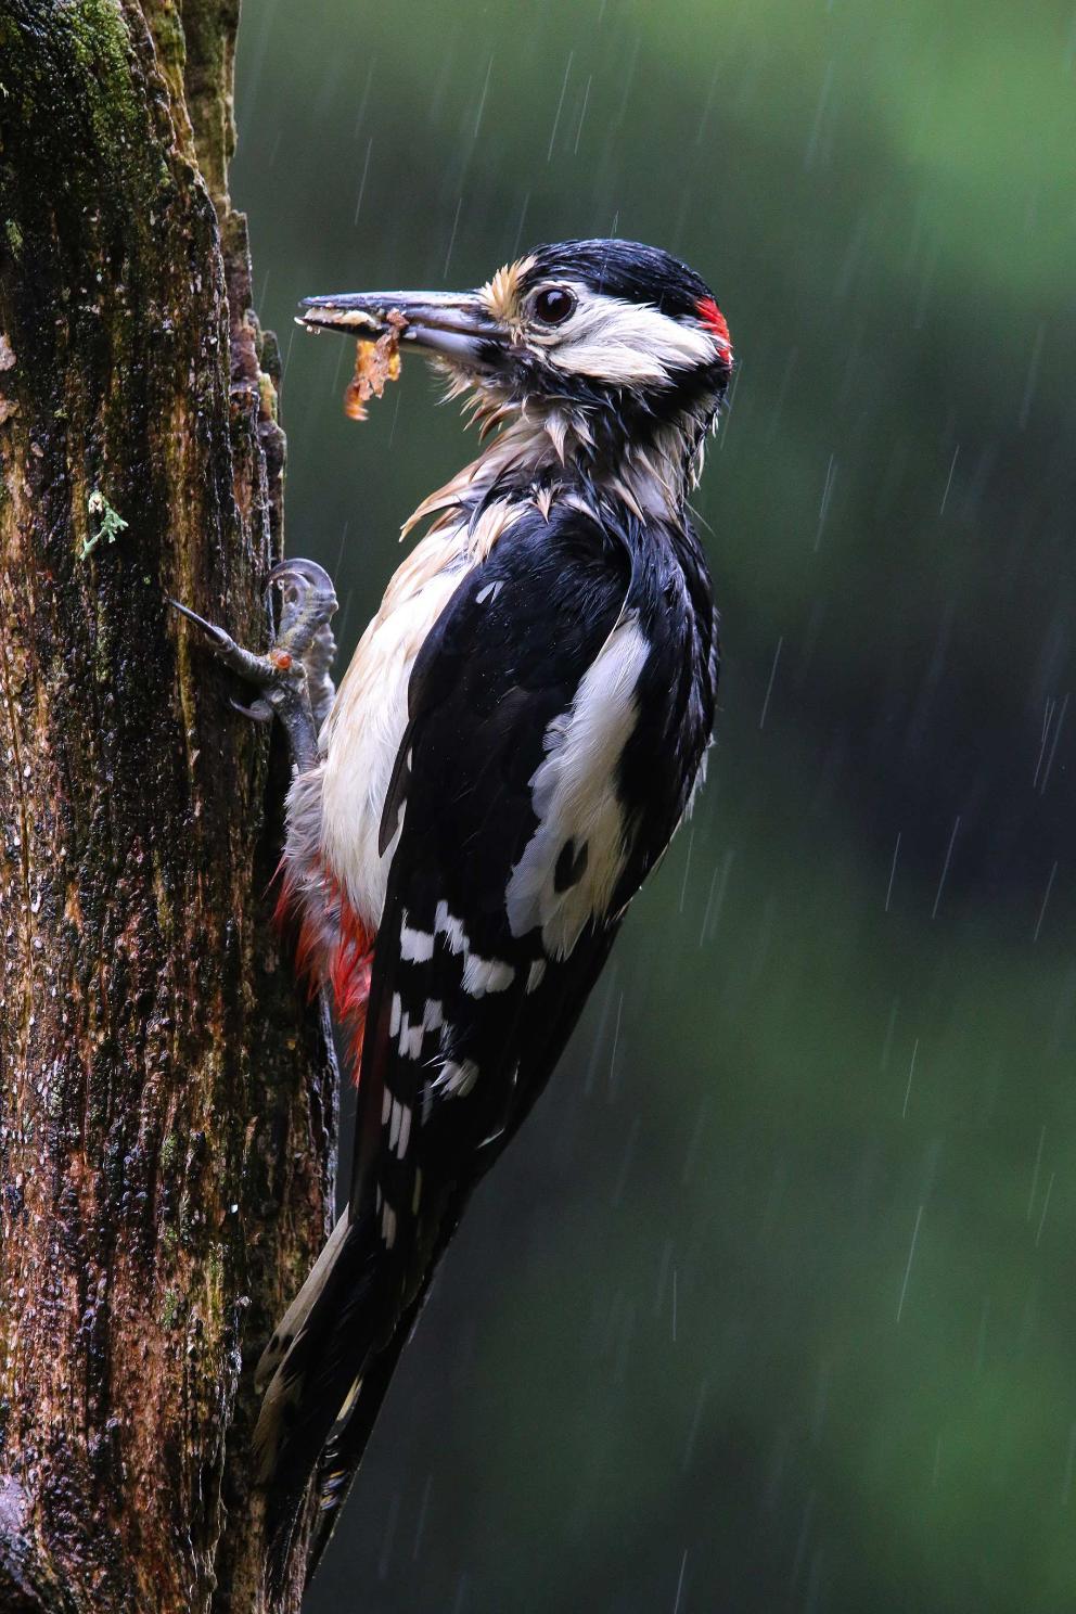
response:
<svg viewBox="0 0 1076 1614"><path fill-rule="evenodd" d="M277 1569L311 1477L316 1564L434 1267L702 783L718 623L687 500L732 370L708 286L628 240L300 323L398 332L487 445L405 523L429 528L336 696L311 562L276 568L268 657L184 612L289 730L282 905L358 1083L347 1209L258 1367Z"/></svg>

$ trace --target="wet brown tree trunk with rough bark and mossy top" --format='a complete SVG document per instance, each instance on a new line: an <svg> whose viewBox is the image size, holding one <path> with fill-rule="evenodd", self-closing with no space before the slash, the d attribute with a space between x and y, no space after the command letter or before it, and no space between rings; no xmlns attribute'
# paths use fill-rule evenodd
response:
<svg viewBox="0 0 1076 1614"><path fill-rule="evenodd" d="M5 1614L268 1609L250 1374L331 1206L282 747L166 605L265 644L281 542L237 15L0 0Z"/></svg>

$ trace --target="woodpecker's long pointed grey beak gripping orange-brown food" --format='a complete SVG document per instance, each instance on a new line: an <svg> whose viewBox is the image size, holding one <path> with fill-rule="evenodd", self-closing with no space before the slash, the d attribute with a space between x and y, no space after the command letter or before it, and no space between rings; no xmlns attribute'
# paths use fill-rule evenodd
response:
<svg viewBox="0 0 1076 1614"><path fill-rule="evenodd" d="M440 353L463 365L490 365L503 349L505 334L487 313L478 292L339 292L303 297L297 323L308 331L340 331L371 339L400 315L400 344Z"/></svg>

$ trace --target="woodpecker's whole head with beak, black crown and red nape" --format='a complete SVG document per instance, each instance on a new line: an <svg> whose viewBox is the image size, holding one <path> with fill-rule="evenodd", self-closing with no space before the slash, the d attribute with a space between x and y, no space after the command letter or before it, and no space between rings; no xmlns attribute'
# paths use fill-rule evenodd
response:
<svg viewBox="0 0 1076 1614"><path fill-rule="evenodd" d="M302 307L313 329L371 337L400 313L402 352L424 352L453 394L473 392L484 423L526 423L539 463L548 452L594 478L634 460L690 483L732 370L708 286L632 240L537 247L473 292L347 292Z"/></svg>

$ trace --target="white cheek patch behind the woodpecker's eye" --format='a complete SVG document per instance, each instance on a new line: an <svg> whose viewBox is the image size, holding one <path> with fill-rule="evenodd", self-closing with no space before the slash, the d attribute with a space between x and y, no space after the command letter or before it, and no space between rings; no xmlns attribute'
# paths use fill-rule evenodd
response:
<svg viewBox="0 0 1076 1614"><path fill-rule="evenodd" d="M666 386L676 371L711 365L718 350L702 326L684 324L652 303L602 297L576 287L579 305L545 357L558 370L615 386Z"/></svg>

